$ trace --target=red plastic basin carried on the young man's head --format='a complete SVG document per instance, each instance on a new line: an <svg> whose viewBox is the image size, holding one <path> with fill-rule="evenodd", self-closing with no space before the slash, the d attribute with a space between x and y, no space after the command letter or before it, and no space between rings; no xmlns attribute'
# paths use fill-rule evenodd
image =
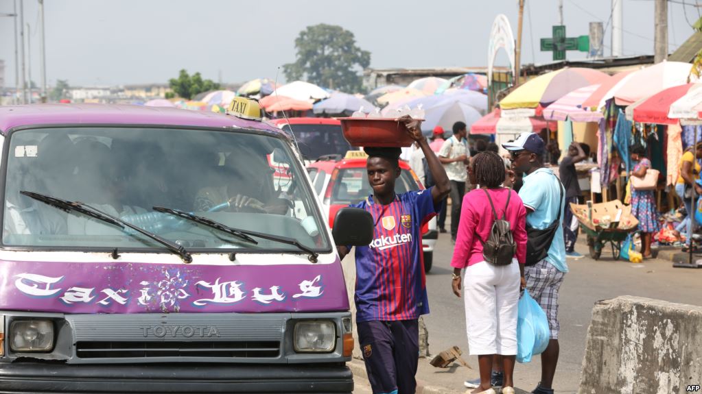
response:
<svg viewBox="0 0 702 394"><path fill-rule="evenodd" d="M396 118L339 118L352 147L410 147L414 140Z"/></svg>

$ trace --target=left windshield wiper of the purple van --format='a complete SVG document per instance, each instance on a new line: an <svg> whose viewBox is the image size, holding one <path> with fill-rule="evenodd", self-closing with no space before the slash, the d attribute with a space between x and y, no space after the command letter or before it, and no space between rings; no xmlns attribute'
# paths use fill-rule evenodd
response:
<svg viewBox="0 0 702 394"><path fill-rule="evenodd" d="M33 191L22 190L22 191L20 191L20 194L24 194L25 196L27 196L29 198L34 198L34 200L41 201L42 203L45 203L46 205L51 205L52 207L58 208L58 209L63 210L65 212L75 211L75 212L82 213L83 215L93 217L93 218L98 219L102 222L112 224L113 226L117 226L122 230L124 230L124 227L126 226L130 229L133 229L134 231L137 231L138 233L141 233L141 234L151 238L152 240L155 240L157 243L164 245L171 252L178 254L178 256L180 256L180 258L183 259L183 262L185 262L185 264L192 262L192 256L190 255L190 252L187 252L187 250L185 250L185 247L178 245L177 243L173 243L170 240L167 240L166 238L161 238L160 236L157 236L154 233L151 233L149 231L146 231L145 229L137 227L129 222L125 222L124 220L119 219L119 217L107 215L105 212L102 212L101 210L95 209L95 208L91 207L90 205L86 205L84 203L79 203L78 201L68 201L68 200L63 200L62 198L46 196L44 194L35 193Z"/></svg>

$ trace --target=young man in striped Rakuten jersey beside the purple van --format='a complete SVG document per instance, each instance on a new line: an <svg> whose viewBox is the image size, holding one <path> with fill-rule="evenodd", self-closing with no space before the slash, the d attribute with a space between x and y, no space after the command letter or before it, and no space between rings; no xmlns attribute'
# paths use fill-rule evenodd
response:
<svg viewBox="0 0 702 394"><path fill-rule="evenodd" d="M429 313L422 264L421 228L449 193L449 178L420 130L420 121L401 118L425 154L436 186L395 194L399 148L364 149L373 194L356 205L376 224L373 242L356 247L356 323L359 346L373 393L413 394L419 359L420 315ZM376 247L385 240L392 247ZM338 246L341 259L350 247Z"/></svg>

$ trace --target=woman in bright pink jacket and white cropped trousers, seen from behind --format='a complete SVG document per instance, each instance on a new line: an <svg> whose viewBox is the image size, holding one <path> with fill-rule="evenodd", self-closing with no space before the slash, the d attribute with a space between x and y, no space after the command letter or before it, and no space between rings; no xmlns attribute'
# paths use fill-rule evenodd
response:
<svg viewBox="0 0 702 394"><path fill-rule="evenodd" d="M472 158L468 168L471 184L479 185L463 197L461 222L453 250L451 287L456 297L465 294L465 321L471 355L478 356L480 384L472 393L494 394L491 385L493 355L503 355L502 393L514 393L512 372L517 355L517 301L526 286L524 260L527 254L527 210L519 195L502 186L505 165L494 152ZM493 208L494 207L494 208ZM511 263L494 265L483 255L495 221L510 222L515 253ZM463 280L461 271L465 270Z"/></svg>

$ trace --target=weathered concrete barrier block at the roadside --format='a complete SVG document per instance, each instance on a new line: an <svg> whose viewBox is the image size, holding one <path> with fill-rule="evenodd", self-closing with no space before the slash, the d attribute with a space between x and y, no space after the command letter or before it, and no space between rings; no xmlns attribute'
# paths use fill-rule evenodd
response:
<svg viewBox="0 0 702 394"><path fill-rule="evenodd" d="M623 296L592 309L578 394L686 393L702 382L702 307Z"/></svg>

